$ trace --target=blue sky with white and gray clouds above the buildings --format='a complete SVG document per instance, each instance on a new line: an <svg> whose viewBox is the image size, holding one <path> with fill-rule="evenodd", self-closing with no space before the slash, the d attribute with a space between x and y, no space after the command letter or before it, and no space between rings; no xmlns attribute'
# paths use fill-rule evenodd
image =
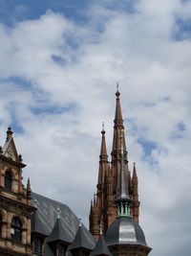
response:
<svg viewBox="0 0 191 256"><path fill-rule="evenodd" d="M0 0L0 145L88 225L116 84L151 256L191 251L191 1Z"/></svg>

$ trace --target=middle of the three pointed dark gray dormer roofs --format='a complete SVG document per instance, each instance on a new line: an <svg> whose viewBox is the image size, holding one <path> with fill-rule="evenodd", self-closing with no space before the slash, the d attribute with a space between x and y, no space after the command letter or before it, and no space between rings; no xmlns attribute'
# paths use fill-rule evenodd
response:
<svg viewBox="0 0 191 256"><path fill-rule="evenodd" d="M95 247L95 241L88 240L85 235L85 228L84 226L79 226L77 233L74 238L73 244L71 244L70 249L78 249L78 248L84 248L87 250L93 250Z"/></svg>

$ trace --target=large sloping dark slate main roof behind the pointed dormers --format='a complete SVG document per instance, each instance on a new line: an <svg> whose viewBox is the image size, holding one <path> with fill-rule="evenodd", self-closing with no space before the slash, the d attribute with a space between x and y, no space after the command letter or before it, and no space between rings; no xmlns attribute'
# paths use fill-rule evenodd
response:
<svg viewBox="0 0 191 256"><path fill-rule="evenodd" d="M64 203L55 201L51 198L43 197L36 193L32 193L33 204L34 199L36 200L35 204L37 210L35 211L35 215L37 216L37 219L32 218L32 232L37 232L47 236L45 244L45 255L53 256L53 251L51 250L47 241L49 241L49 236L51 236L53 233L53 227L57 220L57 208L60 210L59 220L62 226L61 229L66 231L67 236L71 237L72 242L74 241L75 234L79 226L79 220L74 215L74 212L69 208L69 206ZM82 227L87 243L94 244L94 248L95 240L92 234L85 226L82 225Z"/></svg>

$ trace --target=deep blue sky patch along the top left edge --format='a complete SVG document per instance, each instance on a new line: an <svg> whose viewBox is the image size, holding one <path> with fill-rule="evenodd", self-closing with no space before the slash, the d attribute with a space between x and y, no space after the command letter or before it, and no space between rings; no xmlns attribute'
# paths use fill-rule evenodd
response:
<svg viewBox="0 0 191 256"><path fill-rule="evenodd" d="M0 22L12 26L25 19L37 19L47 10L52 10L80 23L86 19L83 13L88 3L88 0L2 0Z"/></svg>

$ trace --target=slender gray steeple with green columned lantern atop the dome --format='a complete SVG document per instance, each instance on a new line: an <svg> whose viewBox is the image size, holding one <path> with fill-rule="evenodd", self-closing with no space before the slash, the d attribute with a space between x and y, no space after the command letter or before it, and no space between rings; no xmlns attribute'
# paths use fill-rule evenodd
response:
<svg viewBox="0 0 191 256"><path fill-rule="evenodd" d="M132 199L129 197L128 182L124 170L124 152L123 152L123 133L120 134L120 179L117 194L118 216L130 217L130 204Z"/></svg>

